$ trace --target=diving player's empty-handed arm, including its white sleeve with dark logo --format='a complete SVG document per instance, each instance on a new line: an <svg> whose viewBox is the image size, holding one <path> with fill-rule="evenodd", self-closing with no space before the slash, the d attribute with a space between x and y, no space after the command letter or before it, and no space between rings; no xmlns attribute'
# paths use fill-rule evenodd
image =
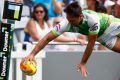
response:
<svg viewBox="0 0 120 80"><path fill-rule="evenodd" d="M85 64L87 63L90 55L92 54L93 47L94 47L98 32L100 30L99 20L100 20L99 17L95 14L88 15L88 25L90 26L88 44L83 54L82 60L78 65L78 68L81 70L82 75L85 77L88 75L88 71Z"/></svg>

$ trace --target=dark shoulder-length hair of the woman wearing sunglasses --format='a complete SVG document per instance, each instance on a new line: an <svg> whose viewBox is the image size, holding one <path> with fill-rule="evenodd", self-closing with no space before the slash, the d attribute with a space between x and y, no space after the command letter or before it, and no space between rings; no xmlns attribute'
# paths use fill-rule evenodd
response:
<svg viewBox="0 0 120 80"><path fill-rule="evenodd" d="M34 19L34 20L37 20L36 17L35 17L35 10L36 10L37 7L42 7L42 8L44 9L44 11L45 11L44 20L47 21L47 20L49 19L48 10L47 10L47 8L46 8L43 4L41 4L41 3L36 4L36 5L34 6L33 14L32 14L33 19Z"/></svg>

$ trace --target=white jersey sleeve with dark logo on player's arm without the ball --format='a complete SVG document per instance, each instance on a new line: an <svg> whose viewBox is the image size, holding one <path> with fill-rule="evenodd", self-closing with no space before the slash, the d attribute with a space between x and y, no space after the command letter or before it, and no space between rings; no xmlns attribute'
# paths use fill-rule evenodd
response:
<svg viewBox="0 0 120 80"><path fill-rule="evenodd" d="M96 35L100 30L100 17L97 13L86 13L89 25L89 35Z"/></svg>

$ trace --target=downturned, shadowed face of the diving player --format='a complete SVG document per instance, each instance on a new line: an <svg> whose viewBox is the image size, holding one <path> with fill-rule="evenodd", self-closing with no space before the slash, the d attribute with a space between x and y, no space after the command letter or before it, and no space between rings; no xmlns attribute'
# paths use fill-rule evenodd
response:
<svg viewBox="0 0 120 80"><path fill-rule="evenodd" d="M78 26L79 23L83 20L83 15L81 14L80 16L75 17L75 16L71 16L71 15L67 14L67 19L70 24Z"/></svg>

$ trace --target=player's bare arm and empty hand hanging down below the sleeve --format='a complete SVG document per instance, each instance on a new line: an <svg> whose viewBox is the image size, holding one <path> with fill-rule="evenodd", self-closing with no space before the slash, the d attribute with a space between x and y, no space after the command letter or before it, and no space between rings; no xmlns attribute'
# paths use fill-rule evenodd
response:
<svg viewBox="0 0 120 80"><path fill-rule="evenodd" d="M97 38L97 35L88 36L87 47L85 49L85 52L83 54L83 57L82 57L82 60L81 60L80 64L78 64L78 71L81 71L81 73L84 77L87 77L87 75L88 75L88 71L87 71L87 68L86 68L86 63L87 63L90 55L92 54L96 38Z"/></svg>

